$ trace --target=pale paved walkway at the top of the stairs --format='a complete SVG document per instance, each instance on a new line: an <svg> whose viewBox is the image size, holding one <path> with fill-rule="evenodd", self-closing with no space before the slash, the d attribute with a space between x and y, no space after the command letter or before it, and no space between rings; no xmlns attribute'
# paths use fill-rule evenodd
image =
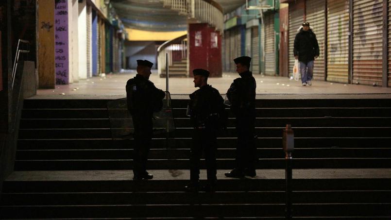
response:
<svg viewBox="0 0 391 220"><path fill-rule="evenodd" d="M136 75L135 70L93 77L70 85L56 85L55 89L39 89L32 99L119 99L126 96L125 85ZM225 94L237 73L223 73L221 78L209 78L208 83ZM156 71L151 75L156 87L166 90L166 79ZM286 77L255 75L257 99L324 99L324 98L391 98L391 88L370 85L346 85L324 81L313 81L312 86L302 86L300 81ZM192 78L170 78L172 98L187 99L187 94L197 88Z"/></svg>

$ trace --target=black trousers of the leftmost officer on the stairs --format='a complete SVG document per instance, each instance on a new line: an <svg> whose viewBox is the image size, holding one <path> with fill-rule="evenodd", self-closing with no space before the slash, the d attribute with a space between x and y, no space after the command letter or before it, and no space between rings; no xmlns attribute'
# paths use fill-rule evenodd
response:
<svg viewBox="0 0 391 220"><path fill-rule="evenodd" d="M133 146L133 174L145 175L147 170L148 152L151 148L152 117L133 116L135 127L135 144Z"/></svg>

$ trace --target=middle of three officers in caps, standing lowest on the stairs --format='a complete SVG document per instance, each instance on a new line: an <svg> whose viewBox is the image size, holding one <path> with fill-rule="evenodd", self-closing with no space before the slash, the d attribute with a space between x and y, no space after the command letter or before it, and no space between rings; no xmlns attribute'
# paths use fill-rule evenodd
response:
<svg viewBox="0 0 391 220"><path fill-rule="evenodd" d="M190 94L188 116L193 130L193 143L190 151L190 185L187 191L199 190L200 158L205 155L207 184L205 191L214 191L216 185L216 135L225 126L223 99L219 91L207 84L209 71L194 69L194 87L198 90Z"/></svg>

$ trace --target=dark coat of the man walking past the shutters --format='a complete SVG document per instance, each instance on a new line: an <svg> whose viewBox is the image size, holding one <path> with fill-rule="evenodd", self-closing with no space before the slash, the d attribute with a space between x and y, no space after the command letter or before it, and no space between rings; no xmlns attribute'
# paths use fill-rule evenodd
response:
<svg viewBox="0 0 391 220"><path fill-rule="evenodd" d="M296 34L294 41L293 54L299 56L299 61L307 64L309 61L315 60L315 56L319 56L319 45L316 35L312 30L303 31Z"/></svg>

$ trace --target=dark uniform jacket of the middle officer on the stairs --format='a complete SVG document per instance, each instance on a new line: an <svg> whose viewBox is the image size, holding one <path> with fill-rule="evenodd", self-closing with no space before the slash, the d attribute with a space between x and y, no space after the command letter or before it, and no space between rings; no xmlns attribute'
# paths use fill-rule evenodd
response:
<svg viewBox="0 0 391 220"><path fill-rule="evenodd" d="M194 128L220 128L225 125L224 100L219 90L204 85L189 95L190 120Z"/></svg>

